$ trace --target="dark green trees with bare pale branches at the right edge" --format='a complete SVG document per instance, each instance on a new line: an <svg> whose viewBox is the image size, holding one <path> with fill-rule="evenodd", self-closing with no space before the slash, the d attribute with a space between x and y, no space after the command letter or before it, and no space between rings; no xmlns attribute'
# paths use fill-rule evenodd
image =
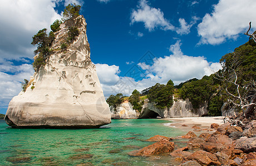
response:
<svg viewBox="0 0 256 166"><path fill-rule="evenodd" d="M256 80L255 42L250 39L249 42L235 48L233 53L222 56L220 63L223 63L223 69L216 75L220 76L222 80L228 80L223 81L222 94L238 106L249 103L249 96L256 93L254 83ZM239 96L241 100L234 96Z"/></svg>

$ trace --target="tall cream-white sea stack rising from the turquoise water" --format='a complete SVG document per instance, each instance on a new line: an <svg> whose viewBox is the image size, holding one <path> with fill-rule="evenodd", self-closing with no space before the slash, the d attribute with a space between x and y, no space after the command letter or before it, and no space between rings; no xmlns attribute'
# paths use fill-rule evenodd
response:
<svg viewBox="0 0 256 166"><path fill-rule="evenodd" d="M70 25L79 34L63 49ZM98 128L111 123L109 105L91 62L86 25L82 15L60 25L46 65L31 76L26 91L9 103L4 117L9 126Z"/></svg>

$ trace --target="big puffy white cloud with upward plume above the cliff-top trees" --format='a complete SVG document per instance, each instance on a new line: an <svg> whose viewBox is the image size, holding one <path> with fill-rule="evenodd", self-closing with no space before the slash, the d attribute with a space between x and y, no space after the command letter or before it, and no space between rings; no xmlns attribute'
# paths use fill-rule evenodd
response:
<svg viewBox="0 0 256 166"><path fill-rule="evenodd" d="M150 76L158 76L161 84L166 84L170 79L173 80L174 84L179 84L194 77L201 79L204 75L210 74L207 69L211 67L211 63L203 56L184 55L180 45L178 40L174 45L170 46L170 51L173 52L173 55L157 58L154 60L153 65L147 66L147 72L149 72ZM216 71L216 68L213 70Z"/></svg>

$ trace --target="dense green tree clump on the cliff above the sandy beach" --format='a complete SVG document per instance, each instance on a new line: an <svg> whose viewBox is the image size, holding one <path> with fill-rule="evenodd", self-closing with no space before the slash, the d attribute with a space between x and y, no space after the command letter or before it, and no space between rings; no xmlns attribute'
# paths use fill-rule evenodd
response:
<svg viewBox="0 0 256 166"><path fill-rule="evenodd" d="M189 98L194 108L199 108L199 104L209 101L212 88L213 76L204 76L201 80L186 82L180 89L180 97L184 100Z"/></svg>

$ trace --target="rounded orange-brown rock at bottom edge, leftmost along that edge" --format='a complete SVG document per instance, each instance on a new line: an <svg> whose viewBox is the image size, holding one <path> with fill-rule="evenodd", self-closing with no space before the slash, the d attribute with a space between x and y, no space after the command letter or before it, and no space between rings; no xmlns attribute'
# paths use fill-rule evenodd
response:
<svg viewBox="0 0 256 166"><path fill-rule="evenodd" d="M194 152L188 156L188 159L195 160L201 165L220 165L216 155L205 151Z"/></svg>

